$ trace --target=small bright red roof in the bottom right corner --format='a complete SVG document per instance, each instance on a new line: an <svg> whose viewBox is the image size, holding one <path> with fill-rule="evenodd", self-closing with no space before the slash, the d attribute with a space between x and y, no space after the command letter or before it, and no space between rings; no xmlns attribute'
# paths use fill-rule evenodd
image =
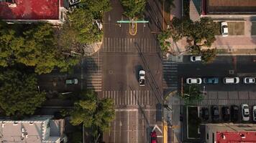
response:
<svg viewBox="0 0 256 143"><path fill-rule="evenodd" d="M256 142L256 132L216 132L216 142Z"/></svg>

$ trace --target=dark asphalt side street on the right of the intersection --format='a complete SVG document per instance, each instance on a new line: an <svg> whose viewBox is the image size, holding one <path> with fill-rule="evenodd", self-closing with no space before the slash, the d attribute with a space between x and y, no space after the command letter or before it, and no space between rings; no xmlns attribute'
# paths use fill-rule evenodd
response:
<svg viewBox="0 0 256 143"><path fill-rule="evenodd" d="M178 79L184 84L188 77L219 77L219 84L201 84L209 91L256 91L256 84L244 84L244 77L256 77L256 56L217 56L211 64L189 61L183 56L183 63L178 64ZM224 77L239 77L239 84L223 84ZM180 80L181 81L181 80Z"/></svg>

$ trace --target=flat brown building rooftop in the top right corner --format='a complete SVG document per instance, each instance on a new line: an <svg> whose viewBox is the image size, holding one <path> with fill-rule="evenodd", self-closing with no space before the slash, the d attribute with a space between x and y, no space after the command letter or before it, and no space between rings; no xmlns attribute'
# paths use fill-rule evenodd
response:
<svg viewBox="0 0 256 143"><path fill-rule="evenodd" d="M256 1L202 0L202 8L207 14L255 14Z"/></svg>

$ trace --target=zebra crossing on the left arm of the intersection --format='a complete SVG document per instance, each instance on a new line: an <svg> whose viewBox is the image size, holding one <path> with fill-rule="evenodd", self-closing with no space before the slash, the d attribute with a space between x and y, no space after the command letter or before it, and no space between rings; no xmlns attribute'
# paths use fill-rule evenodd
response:
<svg viewBox="0 0 256 143"><path fill-rule="evenodd" d="M102 72L101 57L99 54L93 55L86 59L86 87L93 89L95 92L101 92L102 88Z"/></svg>

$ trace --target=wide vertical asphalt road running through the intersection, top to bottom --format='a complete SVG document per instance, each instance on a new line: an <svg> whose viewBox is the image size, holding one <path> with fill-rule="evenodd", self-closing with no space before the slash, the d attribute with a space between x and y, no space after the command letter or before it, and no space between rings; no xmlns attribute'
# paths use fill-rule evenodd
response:
<svg viewBox="0 0 256 143"><path fill-rule="evenodd" d="M104 142L150 142L152 127L157 124L162 129L162 122L157 122L156 104L163 92L162 59L157 43L163 19L157 2L147 1L143 16L150 22L137 24L135 36L129 34L129 24L116 23L129 20L122 15L119 0L112 0L111 11L104 15L104 40L99 51L102 75L99 97L114 99L116 108L116 119L111 122L110 131L104 134ZM140 69L146 71L145 87L138 83ZM162 138L157 140L162 142Z"/></svg>

